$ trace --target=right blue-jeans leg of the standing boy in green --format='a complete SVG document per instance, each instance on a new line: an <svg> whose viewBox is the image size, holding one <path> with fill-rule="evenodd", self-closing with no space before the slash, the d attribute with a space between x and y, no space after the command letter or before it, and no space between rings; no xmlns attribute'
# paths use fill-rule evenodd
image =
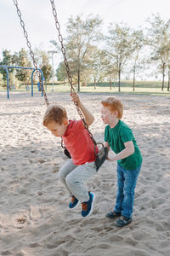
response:
<svg viewBox="0 0 170 256"><path fill-rule="evenodd" d="M124 170L124 199L122 202L122 216L131 218L133 215L134 189L136 187L141 166L136 170Z"/></svg>

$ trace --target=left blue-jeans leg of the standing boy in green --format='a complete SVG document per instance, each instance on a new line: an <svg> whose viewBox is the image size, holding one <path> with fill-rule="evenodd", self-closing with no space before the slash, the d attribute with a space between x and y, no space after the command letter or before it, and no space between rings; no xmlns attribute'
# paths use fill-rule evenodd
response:
<svg viewBox="0 0 170 256"><path fill-rule="evenodd" d="M123 186L124 186L124 174L122 167L117 165L117 191L116 191L116 206L114 212L122 212L122 201L123 201Z"/></svg>

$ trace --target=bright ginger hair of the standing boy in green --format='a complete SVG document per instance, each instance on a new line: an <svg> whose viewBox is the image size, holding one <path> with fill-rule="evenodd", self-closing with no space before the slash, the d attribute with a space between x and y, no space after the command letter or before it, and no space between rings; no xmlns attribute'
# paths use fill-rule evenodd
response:
<svg viewBox="0 0 170 256"><path fill-rule="evenodd" d="M120 100L116 99L116 97L109 97L101 103L104 107L109 108L111 112L116 110L118 112L117 118L122 119L123 105Z"/></svg>

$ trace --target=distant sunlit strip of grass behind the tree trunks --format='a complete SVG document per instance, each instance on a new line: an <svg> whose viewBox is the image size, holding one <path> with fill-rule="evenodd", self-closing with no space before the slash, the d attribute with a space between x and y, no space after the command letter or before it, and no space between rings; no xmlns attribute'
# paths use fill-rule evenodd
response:
<svg viewBox="0 0 170 256"><path fill-rule="evenodd" d="M113 86L113 84L112 84ZM31 87L30 87L31 88ZM47 92L52 91L52 85L48 85L47 89L44 86ZM77 90L77 87L75 87ZM20 90L13 91L26 91L25 86L23 85ZM54 84L54 91L56 92L70 92L69 84ZM164 90L161 90L161 82L155 81L141 81L136 82L135 91L133 91L132 81L126 81L121 83L121 92L118 91L117 83L115 87L110 89L109 83L98 83L96 89L94 89L94 84L88 84L87 86L81 86L80 91L82 93L111 93L111 94L132 94L132 95L156 95L156 96L170 96L170 91L167 91L167 85ZM31 93L31 89L29 90ZM34 92L37 92L37 85L34 85Z"/></svg>

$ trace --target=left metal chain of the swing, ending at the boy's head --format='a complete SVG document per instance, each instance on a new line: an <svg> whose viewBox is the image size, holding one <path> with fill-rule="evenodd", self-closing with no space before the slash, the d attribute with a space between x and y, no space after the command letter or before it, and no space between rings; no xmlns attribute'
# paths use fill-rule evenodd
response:
<svg viewBox="0 0 170 256"><path fill-rule="evenodd" d="M35 67L35 69L36 69L36 72L37 72L37 77L38 77L39 82L40 82L40 84L41 84L41 88L42 88L42 92L43 92L43 96L44 96L46 105L47 105L47 107L49 107L48 97L47 97L46 91L45 91L44 86L43 86L42 76L41 76L40 72L39 72L38 69L37 69L37 61L35 60L34 53L33 53L32 49L31 49L31 43L30 43L30 41L29 41L29 39L28 39L28 33L26 32L25 23L24 23L24 21L23 21L22 18L21 18L21 12L20 12L20 9L19 9L19 7L18 7L18 2L17 2L17 0L14 0L14 5L15 5L15 7L16 7L16 9L17 9L17 15L18 15L19 18L20 18L20 25L22 26L23 31L24 31L24 36L25 36L25 38L26 38L26 44L27 44L28 48L30 49L30 55L31 55L31 58L32 58L32 61L33 61L33 65L34 65L34 67Z"/></svg>

